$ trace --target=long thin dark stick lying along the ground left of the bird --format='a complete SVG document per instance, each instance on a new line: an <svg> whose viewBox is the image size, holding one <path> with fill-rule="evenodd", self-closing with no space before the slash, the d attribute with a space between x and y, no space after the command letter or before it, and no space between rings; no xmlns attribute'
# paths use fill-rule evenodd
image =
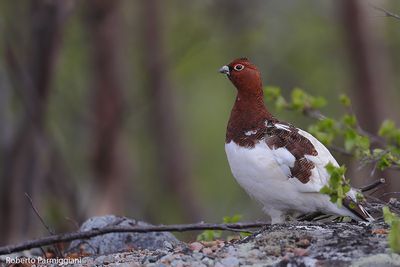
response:
<svg viewBox="0 0 400 267"><path fill-rule="evenodd" d="M244 229L257 228L267 225L265 222L253 223L194 223L194 224L173 224L173 225L149 225L149 226L133 226L120 227L111 226L101 229L93 229L84 232L72 232L46 236L43 238L28 240L17 245L0 247L0 255L20 252L40 246L47 246L61 242L68 242L77 239L88 239L94 236L104 235L108 233L148 233L148 232L186 232L197 230L224 230L231 232L248 232Z"/></svg>

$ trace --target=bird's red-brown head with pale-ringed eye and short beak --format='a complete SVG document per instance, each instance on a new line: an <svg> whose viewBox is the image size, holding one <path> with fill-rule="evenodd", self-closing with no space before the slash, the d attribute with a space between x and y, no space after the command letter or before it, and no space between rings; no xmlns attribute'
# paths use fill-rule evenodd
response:
<svg viewBox="0 0 400 267"><path fill-rule="evenodd" d="M219 69L226 74L239 92L258 93L262 90L261 74L247 58L238 58Z"/></svg>

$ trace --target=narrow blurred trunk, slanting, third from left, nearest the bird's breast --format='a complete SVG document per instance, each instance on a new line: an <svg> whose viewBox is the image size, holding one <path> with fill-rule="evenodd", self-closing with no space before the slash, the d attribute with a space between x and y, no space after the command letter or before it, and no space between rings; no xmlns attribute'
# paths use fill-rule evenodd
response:
<svg viewBox="0 0 400 267"><path fill-rule="evenodd" d="M198 220L200 207L193 186L188 154L175 110L175 95L167 78L169 66L163 42L163 1L143 0L144 60L151 105L151 133L158 153L161 183L167 186L180 204L185 220Z"/></svg>

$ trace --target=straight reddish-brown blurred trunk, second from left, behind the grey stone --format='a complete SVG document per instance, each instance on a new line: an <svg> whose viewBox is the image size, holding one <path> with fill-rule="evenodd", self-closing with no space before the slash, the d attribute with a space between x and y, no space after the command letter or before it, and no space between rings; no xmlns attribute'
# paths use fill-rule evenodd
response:
<svg viewBox="0 0 400 267"><path fill-rule="evenodd" d="M121 143L123 92L119 61L119 0L91 0L86 5L91 42L93 147L92 169L97 201L91 213L120 213L126 195L126 151Z"/></svg>

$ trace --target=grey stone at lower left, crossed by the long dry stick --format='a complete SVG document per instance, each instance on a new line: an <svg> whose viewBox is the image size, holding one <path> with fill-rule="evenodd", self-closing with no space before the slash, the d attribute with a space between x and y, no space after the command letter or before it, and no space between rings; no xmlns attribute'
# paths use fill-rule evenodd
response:
<svg viewBox="0 0 400 267"><path fill-rule="evenodd" d="M80 231L89 231L116 225L129 227L148 226L150 224L125 217L107 215L88 219L82 224ZM110 233L95 236L87 240L73 241L70 245L70 251L83 251L92 255L101 255L128 251L130 249L171 250L179 244L180 241L168 232Z"/></svg>

